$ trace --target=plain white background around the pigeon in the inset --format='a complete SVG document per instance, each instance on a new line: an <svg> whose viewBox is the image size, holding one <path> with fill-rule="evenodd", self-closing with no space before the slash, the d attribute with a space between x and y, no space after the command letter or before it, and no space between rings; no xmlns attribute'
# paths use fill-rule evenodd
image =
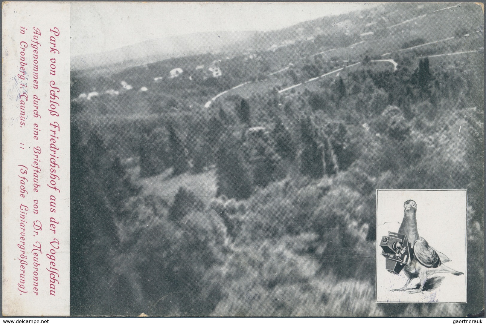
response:
<svg viewBox="0 0 486 324"><path fill-rule="evenodd" d="M445 276L439 288L432 292L390 292L401 288L406 276L390 274L379 246L388 231L398 232L403 219L403 203L417 203L418 235L430 246L451 259L445 263L464 275ZM467 301L466 291L466 191L465 190L378 190L377 191L377 302L455 302ZM417 282L415 279L412 283Z"/></svg>

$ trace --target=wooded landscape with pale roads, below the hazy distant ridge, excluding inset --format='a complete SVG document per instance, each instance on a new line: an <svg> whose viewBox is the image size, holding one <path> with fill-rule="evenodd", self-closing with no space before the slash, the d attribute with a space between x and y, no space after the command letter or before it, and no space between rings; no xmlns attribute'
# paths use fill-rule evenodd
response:
<svg viewBox="0 0 486 324"><path fill-rule="evenodd" d="M73 72L71 314L480 312L484 16L456 4ZM467 304L375 303L376 190L392 188L468 189Z"/></svg>

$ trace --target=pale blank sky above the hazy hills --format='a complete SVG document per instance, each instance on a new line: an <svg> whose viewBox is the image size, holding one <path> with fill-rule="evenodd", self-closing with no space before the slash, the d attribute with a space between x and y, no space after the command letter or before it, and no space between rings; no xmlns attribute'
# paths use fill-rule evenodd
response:
<svg viewBox="0 0 486 324"><path fill-rule="evenodd" d="M374 4L333 2L71 2L71 55L169 35L269 31Z"/></svg>

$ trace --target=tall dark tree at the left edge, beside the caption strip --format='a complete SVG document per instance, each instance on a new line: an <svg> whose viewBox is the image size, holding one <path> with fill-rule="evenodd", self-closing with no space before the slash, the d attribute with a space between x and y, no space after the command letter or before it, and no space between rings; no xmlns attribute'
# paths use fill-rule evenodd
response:
<svg viewBox="0 0 486 324"><path fill-rule="evenodd" d="M113 230L116 228L115 208L100 181L103 169L94 168L90 163L89 155L94 151L82 145L83 138L87 136L86 130L79 128L75 121L76 113L71 118L69 201L73 218L70 221L70 310L79 316L87 314L95 306L100 307L106 300L114 300L110 291L100 290L96 284L96 280L108 282L111 254L107 253L100 262L99 254L93 252L108 251L118 244L118 240ZM94 140L94 143L100 142ZM103 161L105 150L97 152L100 154L99 161Z"/></svg>

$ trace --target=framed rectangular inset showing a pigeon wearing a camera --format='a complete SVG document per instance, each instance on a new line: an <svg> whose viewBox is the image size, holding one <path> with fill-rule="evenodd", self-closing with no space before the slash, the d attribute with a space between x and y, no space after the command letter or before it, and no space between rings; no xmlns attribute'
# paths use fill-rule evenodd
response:
<svg viewBox="0 0 486 324"><path fill-rule="evenodd" d="M377 191L378 303L467 303L467 191Z"/></svg>

